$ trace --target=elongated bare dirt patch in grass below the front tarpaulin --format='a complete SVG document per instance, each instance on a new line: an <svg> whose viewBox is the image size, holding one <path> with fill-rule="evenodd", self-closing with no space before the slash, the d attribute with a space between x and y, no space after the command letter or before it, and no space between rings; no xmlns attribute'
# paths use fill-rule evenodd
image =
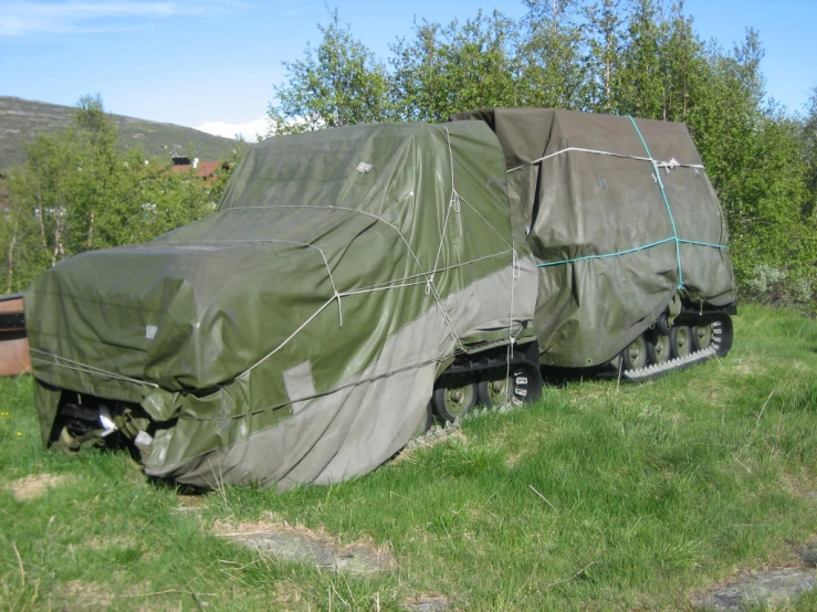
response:
<svg viewBox="0 0 817 612"><path fill-rule="evenodd" d="M321 569L366 574L391 570L397 567L388 546L378 547L370 539L342 546L325 530L314 531L304 526L291 526L276 521L274 516L262 520L216 523L216 535L261 555L283 561L312 563ZM272 519L272 520L271 520Z"/></svg>

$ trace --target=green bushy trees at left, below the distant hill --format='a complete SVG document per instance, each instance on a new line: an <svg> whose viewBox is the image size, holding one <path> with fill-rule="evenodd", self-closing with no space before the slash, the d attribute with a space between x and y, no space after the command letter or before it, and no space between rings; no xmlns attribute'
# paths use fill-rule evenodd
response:
<svg viewBox="0 0 817 612"><path fill-rule="evenodd" d="M2 293L76 253L146 242L213 211L229 170L202 181L140 149L118 151L116 137L102 99L85 96L69 129L28 145L0 215Z"/></svg>

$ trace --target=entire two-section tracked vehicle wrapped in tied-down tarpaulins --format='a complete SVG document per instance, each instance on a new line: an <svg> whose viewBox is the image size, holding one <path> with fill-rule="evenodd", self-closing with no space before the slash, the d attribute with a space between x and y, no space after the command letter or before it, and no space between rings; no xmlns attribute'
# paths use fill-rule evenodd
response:
<svg viewBox="0 0 817 612"><path fill-rule="evenodd" d="M284 489L365 474L540 362L725 355L726 228L685 126L483 109L270 138L218 211L25 294L43 440Z"/></svg>

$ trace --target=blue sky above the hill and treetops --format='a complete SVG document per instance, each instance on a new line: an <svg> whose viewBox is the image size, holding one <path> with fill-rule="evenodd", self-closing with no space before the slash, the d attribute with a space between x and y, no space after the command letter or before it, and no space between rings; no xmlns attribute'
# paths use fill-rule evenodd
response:
<svg viewBox="0 0 817 612"><path fill-rule="evenodd" d="M412 20L450 22L482 6L509 15L521 0L336 0L344 23L386 56ZM761 33L768 95L802 110L817 85L817 0L687 0L695 28L726 48ZM101 93L109 110L233 134L258 120L284 60L301 57L327 21L323 0L0 0L0 95L73 105ZM233 129L233 131L230 131Z"/></svg>

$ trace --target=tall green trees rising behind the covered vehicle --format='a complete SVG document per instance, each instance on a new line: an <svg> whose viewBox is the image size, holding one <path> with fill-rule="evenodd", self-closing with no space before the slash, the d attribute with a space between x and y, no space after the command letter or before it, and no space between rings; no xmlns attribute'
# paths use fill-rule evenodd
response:
<svg viewBox="0 0 817 612"><path fill-rule="evenodd" d="M756 295L773 270L814 308L817 86L805 117L786 113L767 99L757 32L729 50L704 42L684 0L522 1L520 20L416 22L384 63L334 11L317 53L285 64L272 114L310 129L489 106L685 122L724 208L740 286Z"/></svg>

